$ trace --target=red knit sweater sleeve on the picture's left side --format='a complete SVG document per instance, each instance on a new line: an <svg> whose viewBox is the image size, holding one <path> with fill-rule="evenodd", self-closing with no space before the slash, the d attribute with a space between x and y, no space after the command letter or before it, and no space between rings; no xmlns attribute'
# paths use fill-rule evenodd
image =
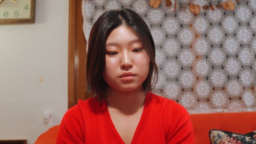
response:
<svg viewBox="0 0 256 144"><path fill-rule="evenodd" d="M84 120L78 105L64 114L56 144L84 144Z"/></svg>

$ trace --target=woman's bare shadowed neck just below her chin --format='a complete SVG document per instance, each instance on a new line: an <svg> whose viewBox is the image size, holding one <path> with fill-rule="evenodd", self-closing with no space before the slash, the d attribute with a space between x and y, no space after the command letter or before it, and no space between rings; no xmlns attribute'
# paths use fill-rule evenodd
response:
<svg viewBox="0 0 256 144"><path fill-rule="evenodd" d="M116 92L109 90L106 97L108 108L115 112L131 115L144 107L145 94L142 90L135 92Z"/></svg>

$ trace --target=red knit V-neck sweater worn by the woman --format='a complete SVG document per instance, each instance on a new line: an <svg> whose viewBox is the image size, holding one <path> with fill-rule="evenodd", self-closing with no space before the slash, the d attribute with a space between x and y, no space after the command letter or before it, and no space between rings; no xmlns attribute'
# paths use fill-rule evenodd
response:
<svg viewBox="0 0 256 144"><path fill-rule="evenodd" d="M195 144L190 116L174 100L148 93L132 144ZM124 144L106 100L79 100L60 124L56 144Z"/></svg>

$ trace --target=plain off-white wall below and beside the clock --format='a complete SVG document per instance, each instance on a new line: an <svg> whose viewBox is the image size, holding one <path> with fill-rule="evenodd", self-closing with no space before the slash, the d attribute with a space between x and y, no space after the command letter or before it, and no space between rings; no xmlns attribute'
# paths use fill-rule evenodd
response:
<svg viewBox="0 0 256 144"><path fill-rule="evenodd" d="M32 144L60 123L67 71L68 0L36 0L34 24L0 25L0 139ZM47 109L53 114L45 125Z"/></svg>

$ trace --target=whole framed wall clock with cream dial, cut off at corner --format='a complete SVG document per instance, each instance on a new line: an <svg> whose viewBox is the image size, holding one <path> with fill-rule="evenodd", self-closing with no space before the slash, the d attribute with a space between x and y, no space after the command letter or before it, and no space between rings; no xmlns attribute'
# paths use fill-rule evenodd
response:
<svg viewBox="0 0 256 144"><path fill-rule="evenodd" d="M36 0L0 0L0 24L35 22Z"/></svg>

